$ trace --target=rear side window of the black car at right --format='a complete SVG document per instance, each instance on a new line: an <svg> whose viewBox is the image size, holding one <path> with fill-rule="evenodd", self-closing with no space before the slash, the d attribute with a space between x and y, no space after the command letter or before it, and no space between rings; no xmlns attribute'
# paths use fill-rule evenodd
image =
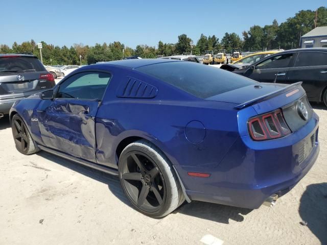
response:
<svg viewBox="0 0 327 245"><path fill-rule="evenodd" d="M327 53L301 52L295 61L295 67L327 65Z"/></svg>

